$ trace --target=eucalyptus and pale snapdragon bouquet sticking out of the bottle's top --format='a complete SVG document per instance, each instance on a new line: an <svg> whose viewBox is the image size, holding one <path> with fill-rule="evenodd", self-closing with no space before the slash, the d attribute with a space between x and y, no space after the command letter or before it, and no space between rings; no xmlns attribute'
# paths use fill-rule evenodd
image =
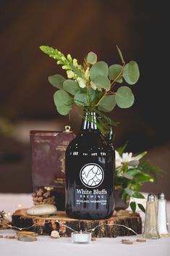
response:
<svg viewBox="0 0 170 256"><path fill-rule="evenodd" d="M83 65L79 65L71 54L66 57L58 49L49 46L41 46L40 49L55 59L67 72L68 79L58 74L48 77L49 83L57 88L54 103L59 114L69 114L73 104L88 107L89 110L98 110L101 116L101 119L98 119L98 127L108 131L113 120L104 112L111 112L116 106L128 108L134 103L135 97L128 86L119 86L117 91L114 91L116 83L120 85L126 82L131 86L140 77L137 62L130 61L126 64L118 46L122 65L114 64L110 67L106 62L97 61L98 57L92 51L85 57Z"/></svg>

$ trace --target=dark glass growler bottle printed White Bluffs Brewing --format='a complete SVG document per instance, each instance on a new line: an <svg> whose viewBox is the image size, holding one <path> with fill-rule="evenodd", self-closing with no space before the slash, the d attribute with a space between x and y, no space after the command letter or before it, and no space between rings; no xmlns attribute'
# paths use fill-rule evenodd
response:
<svg viewBox="0 0 170 256"><path fill-rule="evenodd" d="M85 110L80 133L67 146L66 213L70 218L109 218L114 211L114 149L95 118L95 111Z"/></svg>

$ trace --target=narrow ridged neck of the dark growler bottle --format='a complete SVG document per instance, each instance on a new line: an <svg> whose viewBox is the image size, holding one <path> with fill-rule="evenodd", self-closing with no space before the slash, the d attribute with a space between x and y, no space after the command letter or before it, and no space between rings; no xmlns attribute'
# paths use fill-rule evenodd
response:
<svg viewBox="0 0 170 256"><path fill-rule="evenodd" d="M97 131L95 110L84 110L81 131Z"/></svg>

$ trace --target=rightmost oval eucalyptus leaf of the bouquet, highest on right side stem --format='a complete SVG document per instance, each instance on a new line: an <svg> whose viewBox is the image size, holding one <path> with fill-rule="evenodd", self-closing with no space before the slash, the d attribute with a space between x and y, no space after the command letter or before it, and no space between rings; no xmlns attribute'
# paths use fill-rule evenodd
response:
<svg viewBox="0 0 170 256"><path fill-rule="evenodd" d="M129 84L135 84L140 77L140 70L137 62L131 61L124 66L124 80Z"/></svg>

